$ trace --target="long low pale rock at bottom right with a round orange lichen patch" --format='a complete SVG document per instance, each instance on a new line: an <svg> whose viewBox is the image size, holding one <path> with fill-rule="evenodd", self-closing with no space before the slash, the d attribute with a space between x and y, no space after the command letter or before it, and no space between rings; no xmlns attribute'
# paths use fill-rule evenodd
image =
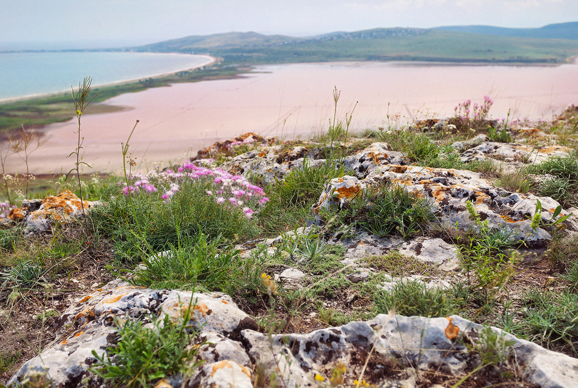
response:
<svg viewBox="0 0 578 388"><path fill-rule="evenodd" d="M481 330L480 325L459 316L428 319L380 314L366 322L309 334L278 334L269 339L245 330L242 335L255 363L269 373L276 372L287 386L316 387L340 365L346 367L346 385L353 384L367 362L364 379L369 384L414 387L413 368L453 376L464 376L475 368L479 360L465 343L478 342ZM497 328L492 330L501 334ZM529 383L569 387L578 380L576 358L504 336L514 342L510 354L517 361L517 372ZM546 360L549 356L553 363Z"/></svg>

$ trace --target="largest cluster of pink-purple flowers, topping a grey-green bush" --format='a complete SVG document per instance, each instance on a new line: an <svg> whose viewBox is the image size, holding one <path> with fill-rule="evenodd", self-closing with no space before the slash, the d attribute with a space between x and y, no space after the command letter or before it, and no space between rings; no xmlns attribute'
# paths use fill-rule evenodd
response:
<svg viewBox="0 0 578 388"><path fill-rule="evenodd" d="M180 191L184 182L211 182L212 188L205 191L206 195L213 197L214 201L222 206L241 208L247 218L253 217L255 209L269 201L262 188L251 184L242 175L232 175L222 169L208 169L188 162L176 170L136 174L132 185L125 185L121 192L124 195L135 195L139 192L153 193L162 190L161 198L168 203L171 202L171 197Z"/></svg>

